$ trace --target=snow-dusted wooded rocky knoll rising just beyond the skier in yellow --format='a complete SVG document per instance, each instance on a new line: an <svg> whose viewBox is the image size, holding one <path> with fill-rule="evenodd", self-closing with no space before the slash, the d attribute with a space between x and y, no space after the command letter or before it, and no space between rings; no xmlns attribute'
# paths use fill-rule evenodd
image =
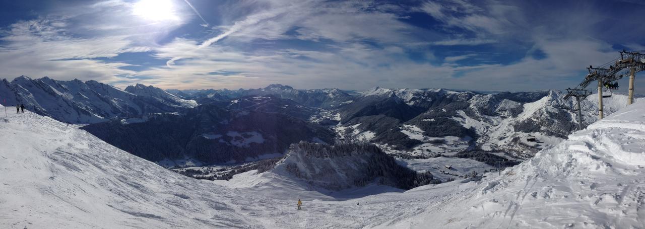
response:
<svg viewBox="0 0 645 229"><path fill-rule="evenodd" d="M433 182L429 172L420 174L405 168L373 144L292 144L272 172L295 176L328 190L361 187L375 181L407 190Z"/></svg>

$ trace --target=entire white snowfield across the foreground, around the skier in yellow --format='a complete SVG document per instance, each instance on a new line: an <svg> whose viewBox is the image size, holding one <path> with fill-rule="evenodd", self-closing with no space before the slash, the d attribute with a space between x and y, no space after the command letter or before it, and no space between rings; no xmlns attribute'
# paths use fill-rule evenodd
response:
<svg viewBox="0 0 645 229"><path fill-rule="evenodd" d="M0 136L0 228L645 227L644 101L501 175L367 196L272 172L195 180L30 112Z"/></svg>

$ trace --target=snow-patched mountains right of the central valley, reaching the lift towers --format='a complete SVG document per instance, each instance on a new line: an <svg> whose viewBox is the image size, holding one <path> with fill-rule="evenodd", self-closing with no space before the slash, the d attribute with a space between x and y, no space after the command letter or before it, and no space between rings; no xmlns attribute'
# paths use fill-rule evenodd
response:
<svg viewBox="0 0 645 229"><path fill-rule="evenodd" d="M514 159L559 143L577 130L573 100L557 91L477 94L442 89L373 88L331 112L342 138L379 144L402 157L485 151ZM597 95L581 102L583 126L597 121ZM626 106L604 99L605 114Z"/></svg>

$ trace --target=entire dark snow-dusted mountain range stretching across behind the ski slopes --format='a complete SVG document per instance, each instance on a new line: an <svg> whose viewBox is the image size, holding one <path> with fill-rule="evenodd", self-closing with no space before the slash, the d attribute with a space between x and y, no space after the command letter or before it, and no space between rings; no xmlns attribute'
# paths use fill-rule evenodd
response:
<svg viewBox="0 0 645 229"><path fill-rule="evenodd" d="M0 96L59 121L90 124L84 129L104 141L169 167L281 157L290 144L309 141L375 144L402 164L435 161L418 168L436 174L450 161L468 168L517 164L566 139L578 123L573 99L557 91L120 90L18 77L2 81ZM596 96L582 100L583 126L597 121ZM624 95L604 100L606 115L626 105Z"/></svg>

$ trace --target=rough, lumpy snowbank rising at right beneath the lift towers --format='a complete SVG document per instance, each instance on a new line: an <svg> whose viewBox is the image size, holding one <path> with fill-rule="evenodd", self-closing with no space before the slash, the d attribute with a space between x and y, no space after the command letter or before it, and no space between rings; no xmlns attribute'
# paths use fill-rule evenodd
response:
<svg viewBox="0 0 645 229"><path fill-rule="evenodd" d="M442 197L418 217L394 224L643 228L644 149L645 101L639 101L571 134L501 177L493 175L470 187L453 185L462 193Z"/></svg>

